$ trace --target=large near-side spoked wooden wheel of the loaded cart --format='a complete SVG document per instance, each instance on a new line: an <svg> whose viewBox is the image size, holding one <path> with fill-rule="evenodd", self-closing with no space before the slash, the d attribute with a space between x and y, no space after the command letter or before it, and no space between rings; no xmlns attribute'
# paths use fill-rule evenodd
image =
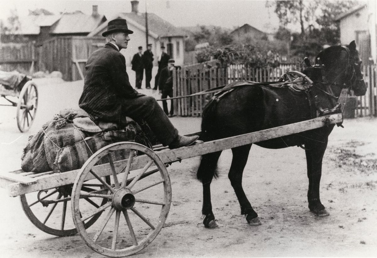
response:
<svg viewBox="0 0 377 258"><path fill-rule="evenodd" d="M116 161L119 157L126 159ZM106 164L96 166L99 161ZM138 167L142 168L135 169ZM101 180L103 175L110 175L111 184ZM86 192L86 183L100 184L107 192ZM86 209L83 196L109 202ZM93 154L78 173L72 190L72 217L91 249L110 257L127 256L142 250L158 235L171 197L166 167L151 149L132 142L114 143ZM84 222L100 212L98 222L86 229Z"/></svg>

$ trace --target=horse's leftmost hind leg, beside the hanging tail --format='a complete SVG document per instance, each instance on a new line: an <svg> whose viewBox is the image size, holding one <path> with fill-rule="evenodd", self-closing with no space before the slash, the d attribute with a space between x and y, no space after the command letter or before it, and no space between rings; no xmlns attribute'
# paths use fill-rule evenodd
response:
<svg viewBox="0 0 377 258"><path fill-rule="evenodd" d="M218 227L215 221L215 215L212 212L211 203L211 182L212 178L216 174L217 161L219 160L221 151L213 152L209 154L202 155L200 166L198 169L198 179L202 181L203 184L203 208L202 214L204 215L203 224L208 228Z"/></svg>

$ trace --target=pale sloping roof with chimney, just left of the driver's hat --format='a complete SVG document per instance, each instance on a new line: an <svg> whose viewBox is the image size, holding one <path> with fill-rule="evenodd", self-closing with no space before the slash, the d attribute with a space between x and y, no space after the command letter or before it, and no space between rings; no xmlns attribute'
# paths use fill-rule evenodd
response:
<svg viewBox="0 0 377 258"><path fill-rule="evenodd" d="M51 28L52 34L89 33L106 20L104 15L87 15L82 12L62 14Z"/></svg>

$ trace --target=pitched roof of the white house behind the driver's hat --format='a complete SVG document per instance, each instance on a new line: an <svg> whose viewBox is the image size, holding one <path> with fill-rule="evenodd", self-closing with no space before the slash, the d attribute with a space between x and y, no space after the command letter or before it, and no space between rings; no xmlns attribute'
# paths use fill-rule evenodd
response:
<svg viewBox="0 0 377 258"><path fill-rule="evenodd" d="M145 13L125 13L121 12L115 17L111 18L110 20L116 18L123 18L127 20L127 23L132 24L136 28L139 28L142 31L146 31L146 23L145 23ZM109 21L110 21L109 20ZM108 21L104 22L97 29L93 30L89 33L88 37L93 37L101 32L104 28L106 28ZM158 37L185 37L187 33L175 27L174 25L170 24L169 22L163 20L162 18L158 17L153 13L148 13L148 33L153 38Z"/></svg>

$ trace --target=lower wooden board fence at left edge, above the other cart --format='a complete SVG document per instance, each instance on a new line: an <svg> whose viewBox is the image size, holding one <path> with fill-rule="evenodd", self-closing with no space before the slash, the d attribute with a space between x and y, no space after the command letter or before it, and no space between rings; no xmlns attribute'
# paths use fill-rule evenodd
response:
<svg viewBox="0 0 377 258"><path fill-rule="evenodd" d="M38 51L35 42L2 43L0 46L0 66L2 71L32 74L38 65Z"/></svg>

